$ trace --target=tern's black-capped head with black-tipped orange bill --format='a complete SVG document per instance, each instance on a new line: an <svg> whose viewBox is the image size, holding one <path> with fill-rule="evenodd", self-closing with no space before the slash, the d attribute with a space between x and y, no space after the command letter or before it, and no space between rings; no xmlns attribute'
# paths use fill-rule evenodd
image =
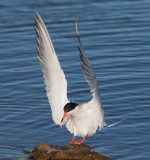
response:
<svg viewBox="0 0 150 160"><path fill-rule="evenodd" d="M64 115L62 117L61 123L68 115L72 114L77 105L77 103L69 102L64 106Z"/></svg>

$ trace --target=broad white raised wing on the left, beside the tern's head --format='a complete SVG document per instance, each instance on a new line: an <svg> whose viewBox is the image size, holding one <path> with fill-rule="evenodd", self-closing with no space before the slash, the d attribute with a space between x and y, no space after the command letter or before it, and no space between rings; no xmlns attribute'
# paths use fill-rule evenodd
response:
<svg viewBox="0 0 150 160"><path fill-rule="evenodd" d="M35 30L38 58L43 71L52 117L56 124L61 125L63 108L68 103L67 81L59 64L50 35L38 13L35 17Z"/></svg>

